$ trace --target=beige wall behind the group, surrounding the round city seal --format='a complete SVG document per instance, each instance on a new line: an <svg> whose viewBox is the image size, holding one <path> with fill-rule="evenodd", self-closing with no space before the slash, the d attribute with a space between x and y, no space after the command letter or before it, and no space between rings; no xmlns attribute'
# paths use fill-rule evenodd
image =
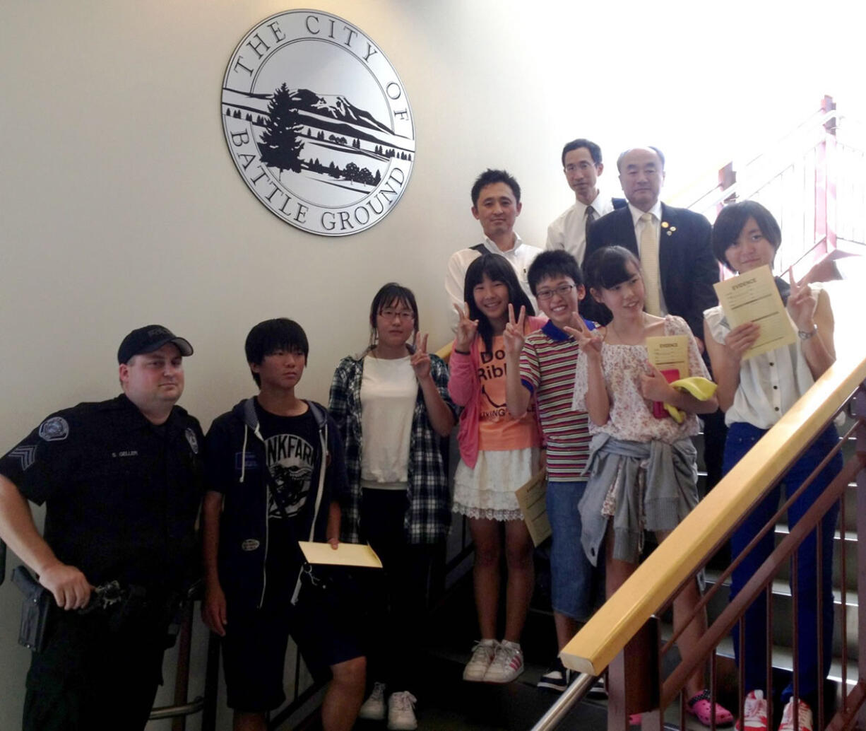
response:
<svg viewBox="0 0 866 731"><path fill-rule="evenodd" d="M182 403L205 428L251 391L242 342L267 317L307 328L301 390L325 401L339 357L364 346L365 310L387 280L416 291L430 343L445 342L444 267L480 238L468 192L484 167L517 176L518 229L543 245L570 203L565 140L602 144L610 193L617 150L650 140L669 155L673 193L737 142L774 136L761 119L796 109L779 122L788 127L820 95L840 94L837 67L828 79L803 52L807 22L786 16L777 27L760 3L749 3L747 21L712 23L695 16L700 4L676 3L669 17L681 24L647 29L626 19L643 14L637 4L578 14L585 3L318 0L388 55L417 133L396 210L357 236L320 238L254 199L219 120L236 43L292 4L0 2L0 451L55 408L114 395L120 338L151 322L195 345ZM665 15L657 4L652 12ZM779 33L768 40L760 29L771 23ZM779 79L783 68L791 82ZM738 74L748 88L720 90L718 80ZM17 726L29 660L15 643L17 605L5 584L4 729Z"/></svg>

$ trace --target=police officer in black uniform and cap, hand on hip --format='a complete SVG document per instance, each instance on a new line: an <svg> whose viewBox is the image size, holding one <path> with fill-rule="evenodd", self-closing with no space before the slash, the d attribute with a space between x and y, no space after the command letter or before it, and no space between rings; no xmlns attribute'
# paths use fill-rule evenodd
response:
<svg viewBox="0 0 866 731"><path fill-rule="evenodd" d="M132 330L118 351L121 395L51 414L0 459L0 538L56 603L30 665L24 731L145 727L197 563L204 438L175 405L191 355L160 325ZM46 504L44 538L28 500ZM111 581L124 599L82 612Z"/></svg>

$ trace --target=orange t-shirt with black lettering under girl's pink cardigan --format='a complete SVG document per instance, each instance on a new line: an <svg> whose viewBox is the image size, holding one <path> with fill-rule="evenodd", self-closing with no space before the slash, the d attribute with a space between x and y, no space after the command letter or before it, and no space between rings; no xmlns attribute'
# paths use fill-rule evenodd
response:
<svg viewBox="0 0 866 731"><path fill-rule="evenodd" d="M478 447L492 452L526 449L540 445L535 421L535 407L530 404L520 419L508 413L505 402L505 345L502 336L494 336L488 351L481 342L478 380L481 382L481 405L478 422Z"/></svg>

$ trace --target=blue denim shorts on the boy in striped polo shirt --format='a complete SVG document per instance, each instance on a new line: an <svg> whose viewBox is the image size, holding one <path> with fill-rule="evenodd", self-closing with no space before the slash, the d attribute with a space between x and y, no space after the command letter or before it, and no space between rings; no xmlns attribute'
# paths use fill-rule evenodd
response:
<svg viewBox="0 0 866 731"><path fill-rule="evenodd" d="M585 489L585 480L547 483L547 519L553 531L550 552L553 611L578 622L592 616L603 584L601 571L591 565L580 545L578 503Z"/></svg>

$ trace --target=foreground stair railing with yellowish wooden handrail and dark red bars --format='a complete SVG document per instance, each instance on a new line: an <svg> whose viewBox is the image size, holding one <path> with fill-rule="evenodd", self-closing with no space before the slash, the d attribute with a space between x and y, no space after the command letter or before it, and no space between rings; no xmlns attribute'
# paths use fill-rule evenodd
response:
<svg viewBox="0 0 866 731"><path fill-rule="evenodd" d="M608 728L628 728L630 714L643 713L644 729L661 729L664 712L671 703L680 697L679 725L685 728L685 701L682 689L686 680L695 670L709 666L709 685L712 702L717 696L734 698L736 704L730 708L734 715L742 715L743 670L734 671L733 662L718 653L718 647L726 640L735 625L742 622L746 609L753 601L765 594L772 600L772 583L783 571L785 565L792 563L792 626L794 631L794 657L792 662L794 695L798 696L798 658L797 658L797 551L804 538L811 532L823 530L821 521L824 515L837 504L840 506L841 535L845 536L845 521L850 519L844 506L846 488L852 480L857 480L861 488L856 493L856 532L861 530L866 534L866 390L863 381L866 380L866 359L857 360L847 368L842 364L834 365L816 383L815 387L785 414L779 424L772 428L765 437L753 447L749 454L740 460L724 480L722 480L708 497L703 499L695 510L689 514L682 524L662 542L650 558L641 565L632 577L621 587L617 594L585 625L563 651L565 664L572 669L585 673L580 677L581 688L591 682L591 676L598 676L606 669L608 672L608 689L611 699L608 706ZM857 390L855 390L857 389ZM852 394L854 391L854 394ZM856 397L855 397L856 395ZM688 582L695 581L698 571L707 564L714 552L723 545L740 523L746 519L766 493L781 480L788 467L792 465L811 445L818 435L824 432L835 415L844 409L849 409L854 417L853 426L842 441L839 441L835 452L847 441L856 437L856 453L845 463L842 471L830 482L820 497L814 501L811 508L795 525L790 527L779 545L748 580L740 593L727 604L724 610L701 636L701 640L689 653L683 654L676 662L667 677L662 674L662 663L670 668L672 662L669 656L678 633L674 632L663 640L663 612L672 604L674 597ZM811 474L804 485L793 493L791 498L767 521L758 536L740 556L733 561L721 577L716 579L701 603L695 609L692 617L706 610L713 597L721 591L721 586L740 565L743 557L755 545L761 536L774 530L779 517L788 506L798 499L811 484L811 480L820 469L831 459L828 455ZM842 543L844 543L842 541ZM815 708L815 728L849 728L856 714L862 713L863 700L866 698L866 543L857 544L856 569L848 563L843 550L838 556L842 586L841 602L843 611L848 607L847 593L850 578L858 578L856 592L857 619L859 628L857 634L856 653L858 670L856 677L848 676L850 666L850 651L848 624L839 623L841 633L841 678L837 709L825 723L824 719L824 688L819 684L818 704ZM818 565L820 566L820 556ZM818 585L821 574L818 574ZM818 616L821 606L818 602ZM772 601L767 612L767 693L772 695L773 662L772 662L772 630L778 629L774 624ZM861 607L863 610L861 610ZM682 623L688 624L688 620ZM741 630L741 627L740 627ZM820 630L818 632L821 641ZM740 631L740 638L743 637ZM742 641L742 640L741 640ZM740 646L740 656L742 656ZM819 650L818 664L823 663ZM727 665L727 668L726 668ZM727 671L726 671L727 670ZM778 686L778 683L777 683ZM739 688L739 691L737 690ZM533 731L555 728L558 719L562 718L582 694L569 693L560 698L534 727ZM772 713L772 707L771 707ZM675 725L675 724L674 724ZM713 727L714 728L714 727Z"/></svg>

